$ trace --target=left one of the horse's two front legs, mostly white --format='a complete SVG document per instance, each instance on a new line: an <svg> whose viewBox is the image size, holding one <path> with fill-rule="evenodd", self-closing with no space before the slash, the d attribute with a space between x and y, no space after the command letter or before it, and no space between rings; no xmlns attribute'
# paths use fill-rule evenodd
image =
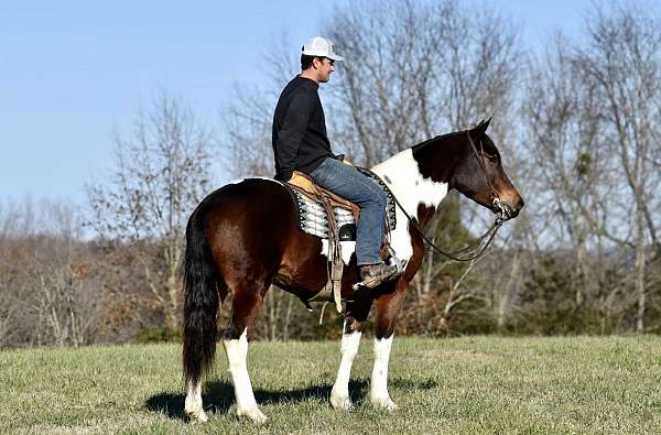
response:
<svg viewBox="0 0 661 435"><path fill-rule="evenodd" d="M351 407L351 399L349 398L349 378L351 374L351 366L358 354L360 345L360 336L365 319L369 313L371 301L368 303L361 302L347 303L347 314L343 325L339 369L337 378L330 390L330 404L336 410L348 410Z"/></svg>

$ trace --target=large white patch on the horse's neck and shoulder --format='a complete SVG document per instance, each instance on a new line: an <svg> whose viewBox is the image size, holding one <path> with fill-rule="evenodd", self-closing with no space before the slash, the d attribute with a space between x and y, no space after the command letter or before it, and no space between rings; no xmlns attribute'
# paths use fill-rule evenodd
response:
<svg viewBox="0 0 661 435"><path fill-rule="evenodd" d="M388 187L413 218L418 217L420 204L436 208L447 195L447 183L435 183L422 176L411 149L379 163L372 171L381 178L388 177ZM397 227L390 235L390 246L401 261L408 261L413 255L408 219L399 206L395 209Z"/></svg>

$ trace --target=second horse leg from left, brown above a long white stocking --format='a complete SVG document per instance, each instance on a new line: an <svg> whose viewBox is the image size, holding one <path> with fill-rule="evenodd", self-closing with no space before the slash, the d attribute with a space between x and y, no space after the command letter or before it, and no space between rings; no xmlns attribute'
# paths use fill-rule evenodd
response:
<svg viewBox="0 0 661 435"><path fill-rule="evenodd" d="M256 284L253 282L253 284ZM257 406L252 384L248 376L248 335L251 333L263 303L268 284L241 285L232 293L229 326L223 335L223 346L237 401L237 415L247 416L256 423L263 423L267 416ZM259 289L259 291L254 291ZM263 290L262 290L263 289Z"/></svg>

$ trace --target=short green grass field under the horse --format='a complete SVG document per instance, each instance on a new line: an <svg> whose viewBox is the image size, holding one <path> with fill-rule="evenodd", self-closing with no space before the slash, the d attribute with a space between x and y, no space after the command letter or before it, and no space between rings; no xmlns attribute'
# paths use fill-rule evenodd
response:
<svg viewBox="0 0 661 435"><path fill-rule="evenodd" d="M369 403L371 340L350 384L328 395L339 342L257 342L249 370L263 426L231 413L223 347L204 395L209 422L183 415L181 347L0 352L0 433L661 433L661 338L395 337L390 395Z"/></svg>

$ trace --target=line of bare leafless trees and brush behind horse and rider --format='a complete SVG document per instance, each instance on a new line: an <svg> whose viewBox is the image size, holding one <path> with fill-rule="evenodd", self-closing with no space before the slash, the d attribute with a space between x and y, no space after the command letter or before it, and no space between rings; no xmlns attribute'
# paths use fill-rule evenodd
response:
<svg viewBox="0 0 661 435"><path fill-rule="evenodd" d="M557 33L540 50L507 18L451 0L358 2L323 24L346 58L319 90L337 152L370 166L492 117L527 202L483 259L426 252L400 331L661 330L661 20L622 4L587 17L578 37ZM183 231L218 187L213 162L237 177L273 175L272 110L299 67L295 53L269 53L270 80L238 91L219 134L162 96L116 138L112 176L87 186L85 210L1 205L0 346L176 337ZM458 249L489 219L451 194L429 233ZM319 315L272 289L258 334L336 337L334 311L321 326Z"/></svg>

